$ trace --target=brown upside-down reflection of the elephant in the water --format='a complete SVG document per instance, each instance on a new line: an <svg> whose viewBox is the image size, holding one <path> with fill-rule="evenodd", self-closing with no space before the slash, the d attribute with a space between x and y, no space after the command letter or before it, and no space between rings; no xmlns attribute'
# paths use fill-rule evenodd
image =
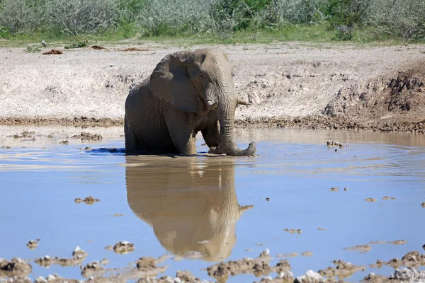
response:
<svg viewBox="0 0 425 283"><path fill-rule="evenodd" d="M229 257L236 222L253 207L237 202L231 158L127 156L126 162L128 204L166 250L182 257L196 251L207 261Z"/></svg>

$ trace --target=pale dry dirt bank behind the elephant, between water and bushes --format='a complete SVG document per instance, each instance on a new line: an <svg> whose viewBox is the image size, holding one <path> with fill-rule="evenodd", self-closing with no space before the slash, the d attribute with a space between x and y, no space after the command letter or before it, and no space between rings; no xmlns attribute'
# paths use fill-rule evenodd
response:
<svg viewBox="0 0 425 283"><path fill-rule="evenodd" d="M122 125L130 88L183 49L106 47L54 46L63 54L52 55L1 47L0 125ZM239 125L425 132L425 45L216 47L229 54L239 95L253 103L239 106Z"/></svg>

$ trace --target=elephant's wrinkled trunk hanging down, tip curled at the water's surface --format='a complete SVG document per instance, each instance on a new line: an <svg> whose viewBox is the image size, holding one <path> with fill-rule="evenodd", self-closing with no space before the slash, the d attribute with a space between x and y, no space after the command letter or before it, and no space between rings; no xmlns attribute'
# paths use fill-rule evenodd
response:
<svg viewBox="0 0 425 283"><path fill-rule="evenodd" d="M228 97L228 96L224 96ZM217 154L230 156L251 156L255 154L256 144L251 141L247 149L239 149L233 137L234 112L236 101L220 101L217 107L218 121L220 122L220 146L216 149ZM212 151L214 152L214 151Z"/></svg>

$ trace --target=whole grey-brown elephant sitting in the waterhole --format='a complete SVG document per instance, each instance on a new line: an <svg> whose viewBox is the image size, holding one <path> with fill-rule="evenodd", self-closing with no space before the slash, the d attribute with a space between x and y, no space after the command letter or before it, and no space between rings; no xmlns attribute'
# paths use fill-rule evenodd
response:
<svg viewBox="0 0 425 283"><path fill-rule="evenodd" d="M166 55L125 100L125 154L196 154L202 132L211 154L252 156L256 144L239 149L234 112L240 100L232 65L219 49Z"/></svg>

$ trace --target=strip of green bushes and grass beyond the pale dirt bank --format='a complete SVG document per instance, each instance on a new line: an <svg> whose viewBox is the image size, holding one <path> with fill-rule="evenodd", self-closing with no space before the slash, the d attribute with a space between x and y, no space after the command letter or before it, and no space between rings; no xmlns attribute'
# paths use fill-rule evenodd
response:
<svg viewBox="0 0 425 283"><path fill-rule="evenodd" d="M311 36L425 40L425 1L0 0L0 37L212 35L227 40L234 33L255 38L267 30L285 36L288 30L324 25L330 29Z"/></svg>

